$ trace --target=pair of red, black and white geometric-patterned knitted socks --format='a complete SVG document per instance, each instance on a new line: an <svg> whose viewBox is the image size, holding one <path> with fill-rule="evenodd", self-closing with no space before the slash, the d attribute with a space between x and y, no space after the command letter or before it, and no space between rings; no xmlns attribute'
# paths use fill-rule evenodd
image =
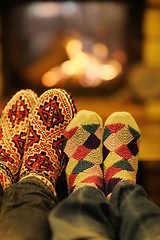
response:
<svg viewBox="0 0 160 240"><path fill-rule="evenodd" d="M70 94L51 89L39 98L16 93L0 119L0 183L6 190L25 177L37 177L55 193L63 169L63 132L76 113Z"/></svg>

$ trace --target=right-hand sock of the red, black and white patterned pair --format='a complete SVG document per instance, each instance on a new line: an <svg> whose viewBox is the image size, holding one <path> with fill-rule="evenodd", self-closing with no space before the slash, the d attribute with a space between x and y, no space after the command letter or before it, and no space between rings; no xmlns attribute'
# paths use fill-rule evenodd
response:
<svg viewBox="0 0 160 240"><path fill-rule="evenodd" d="M39 178L55 193L63 168L63 132L75 113L74 101L65 90L50 89L40 96L29 117L20 180Z"/></svg>

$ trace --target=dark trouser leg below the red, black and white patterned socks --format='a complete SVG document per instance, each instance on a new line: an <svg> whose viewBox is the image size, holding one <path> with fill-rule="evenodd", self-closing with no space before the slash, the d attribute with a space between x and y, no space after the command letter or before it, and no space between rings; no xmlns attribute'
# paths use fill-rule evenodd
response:
<svg viewBox="0 0 160 240"><path fill-rule="evenodd" d="M3 194L1 240L47 240L48 214L56 204L52 191L36 178L26 178Z"/></svg>

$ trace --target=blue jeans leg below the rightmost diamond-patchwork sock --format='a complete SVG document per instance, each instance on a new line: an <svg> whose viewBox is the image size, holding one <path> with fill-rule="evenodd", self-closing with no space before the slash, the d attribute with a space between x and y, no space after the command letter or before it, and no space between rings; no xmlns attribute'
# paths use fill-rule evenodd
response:
<svg viewBox="0 0 160 240"><path fill-rule="evenodd" d="M121 240L160 240L160 208L141 186L123 181L110 201L121 216Z"/></svg>

